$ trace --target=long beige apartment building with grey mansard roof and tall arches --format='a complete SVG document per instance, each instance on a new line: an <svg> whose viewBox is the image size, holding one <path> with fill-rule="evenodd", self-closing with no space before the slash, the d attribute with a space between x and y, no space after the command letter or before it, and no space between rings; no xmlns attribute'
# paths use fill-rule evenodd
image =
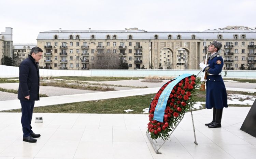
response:
<svg viewBox="0 0 256 159"><path fill-rule="evenodd" d="M151 63L154 68L161 63L163 69L200 69L204 45L216 39L223 44L219 53L225 68L238 69L241 63L255 68L255 28L247 28L228 26L202 32L59 29L40 32L37 45L44 49L40 65L50 69L91 69L106 55L109 60L118 61L118 57L127 62L129 69L150 68Z"/></svg>

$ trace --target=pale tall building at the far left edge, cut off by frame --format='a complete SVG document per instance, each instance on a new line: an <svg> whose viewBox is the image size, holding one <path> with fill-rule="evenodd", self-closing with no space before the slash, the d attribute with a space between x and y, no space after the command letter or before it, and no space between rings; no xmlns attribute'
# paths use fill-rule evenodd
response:
<svg viewBox="0 0 256 159"><path fill-rule="evenodd" d="M12 42L12 28L6 27L5 32L0 33L0 60L3 56L12 58Z"/></svg>

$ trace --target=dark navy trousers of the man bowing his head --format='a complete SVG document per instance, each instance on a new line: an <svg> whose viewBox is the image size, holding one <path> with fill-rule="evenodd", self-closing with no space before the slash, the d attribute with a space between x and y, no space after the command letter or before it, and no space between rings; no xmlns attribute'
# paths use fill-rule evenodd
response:
<svg viewBox="0 0 256 159"><path fill-rule="evenodd" d="M25 101L20 100L20 104L22 105L22 131L23 137L28 137L33 132L31 129L31 121L32 121L32 114L34 109L35 101Z"/></svg>

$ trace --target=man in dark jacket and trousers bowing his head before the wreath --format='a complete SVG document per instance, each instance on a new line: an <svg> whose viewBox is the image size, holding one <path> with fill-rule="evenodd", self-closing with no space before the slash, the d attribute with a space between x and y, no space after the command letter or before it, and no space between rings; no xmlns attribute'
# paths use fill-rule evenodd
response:
<svg viewBox="0 0 256 159"><path fill-rule="evenodd" d="M19 89L18 99L22 106L22 130L23 141L37 142L41 135L35 134L31 129L31 120L35 100L39 100L39 60L42 58L43 50L33 47L28 58L23 60L19 66Z"/></svg>

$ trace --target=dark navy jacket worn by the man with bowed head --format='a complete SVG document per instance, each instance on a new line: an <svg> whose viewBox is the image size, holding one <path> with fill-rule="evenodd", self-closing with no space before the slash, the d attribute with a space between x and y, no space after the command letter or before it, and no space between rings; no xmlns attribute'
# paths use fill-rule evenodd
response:
<svg viewBox="0 0 256 159"><path fill-rule="evenodd" d="M19 89L18 99L26 100L29 95L29 101L39 100L39 68L38 63L28 55L19 66Z"/></svg>

